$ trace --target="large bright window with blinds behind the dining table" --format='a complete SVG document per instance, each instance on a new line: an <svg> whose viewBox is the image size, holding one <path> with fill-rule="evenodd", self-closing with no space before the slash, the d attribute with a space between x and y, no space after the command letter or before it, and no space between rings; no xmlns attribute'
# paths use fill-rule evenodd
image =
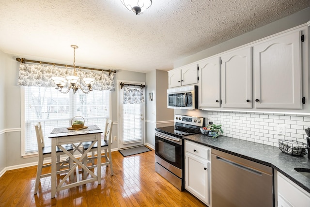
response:
<svg viewBox="0 0 310 207"><path fill-rule="evenodd" d="M42 124L45 145L50 146L47 137L53 128L70 127L75 116L82 116L86 126L97 125L103 130L110 117L111 92L108 90L62 94L54 88L31 86L22 87L21 94L22 155L37 152L34 125L38 122Z"/></svg>

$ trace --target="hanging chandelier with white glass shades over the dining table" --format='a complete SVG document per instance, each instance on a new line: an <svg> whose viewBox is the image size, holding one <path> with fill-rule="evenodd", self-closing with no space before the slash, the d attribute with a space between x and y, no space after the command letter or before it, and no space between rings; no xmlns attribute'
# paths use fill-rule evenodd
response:
<svg viewBox="0 0 310 207"><path fill-rule="evenodd" d="M66 94L70 91L70 89L73 90L73 93L75 94L78 91L78 88L81 89L81 91L84 94L88 94L89 92L92 91L92 85L93 85L93 78L83 78L81 79L79 76L77 76L77 71L76 71L76 49L78 46L76 45L71 45L71 48L73 48L74 51L74 56L73 56L73 67L74 67L74 76L66 76L65 78L63 77L52 77L52 80L56 84L58 91ZM84 90L82 86L79 84L79 82L85 83L88 89ZM66 91L62 91L64 86L66 86L68 83L68 89Z"/></svg>

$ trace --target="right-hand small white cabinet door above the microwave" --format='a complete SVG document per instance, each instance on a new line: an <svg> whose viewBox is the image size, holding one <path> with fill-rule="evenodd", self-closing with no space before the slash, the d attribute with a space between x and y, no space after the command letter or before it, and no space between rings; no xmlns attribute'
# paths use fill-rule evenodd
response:
<svg viewBox="0 0 310 207"><path fill-rule="evenodd" d="M190 64L182 67L182 85L193 85L198 83L198 65Z"/></svg>

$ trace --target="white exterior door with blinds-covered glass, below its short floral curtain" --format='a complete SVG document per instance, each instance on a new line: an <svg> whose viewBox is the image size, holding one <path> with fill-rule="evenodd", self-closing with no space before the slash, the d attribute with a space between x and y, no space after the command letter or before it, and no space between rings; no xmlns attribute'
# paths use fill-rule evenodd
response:
<svg viewBox="0 0 310 207"><path fill-rule="evenodd" d="M137 84L137 83L135 83ZM144 83L143 83L144 84ZM134 87L134 86L133 86ZM137 86L138 88L139 86ZM144 89L143 89L144 91ZM145 93L143 93L145 94ZM119 93L119 141L120 149L143 145L144 143L144 102L124 104L124 88Z"/></svg>

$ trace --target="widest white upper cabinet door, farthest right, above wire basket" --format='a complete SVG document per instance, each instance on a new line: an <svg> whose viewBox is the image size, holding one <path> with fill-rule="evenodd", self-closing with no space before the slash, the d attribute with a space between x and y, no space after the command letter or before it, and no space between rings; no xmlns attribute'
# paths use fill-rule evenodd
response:
<svg viewBox="0 0 310 207"><path fill-rule="evenodd" d="M301 109L300 32L253 47L256 108Z"/></svg>

